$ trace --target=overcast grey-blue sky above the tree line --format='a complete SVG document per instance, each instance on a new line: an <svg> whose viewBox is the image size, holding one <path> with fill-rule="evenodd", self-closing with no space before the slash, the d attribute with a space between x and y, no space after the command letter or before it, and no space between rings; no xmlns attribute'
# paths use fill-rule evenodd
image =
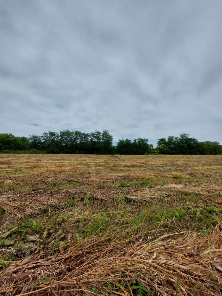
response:
<svg viewBox="0 0 222 296"><path fill-rule="evenodd" d="M222 144L221 0L0 0L0 133Z"/></svg>

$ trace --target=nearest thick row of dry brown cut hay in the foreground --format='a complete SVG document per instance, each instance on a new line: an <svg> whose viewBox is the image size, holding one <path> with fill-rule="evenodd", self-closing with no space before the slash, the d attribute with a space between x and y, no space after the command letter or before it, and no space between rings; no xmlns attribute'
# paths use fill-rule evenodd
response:
<svg viewBox="0 0 222 296"><path fill-rule="evenodd" d="M191 295L196 290L197 295L220 295L221 251L218 228L204 238L189 232L147 232L119 241L107 233L76 243L65 254L46 257L37 249L0 273L0 293L92 295L97 290L104 295L108 289L113 295L135 295L134 287L141 285L152 295Z"/></svg>

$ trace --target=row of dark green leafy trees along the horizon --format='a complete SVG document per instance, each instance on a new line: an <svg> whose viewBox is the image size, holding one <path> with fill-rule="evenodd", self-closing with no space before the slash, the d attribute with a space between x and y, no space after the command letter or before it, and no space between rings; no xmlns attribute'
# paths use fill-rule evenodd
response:
<svg viewBox="0 0 222 296"><path fill-rule="evenodd" d="M112 144L113 137L108 130L83 133L81 131L48 131L41 136L16 137L12 133L0 133L1 153L65 153L65 154L222 154L222 145L215 141L199 142L181 133L179 137L169 136L157 141L153 148L148 139L120 139Z"/></svg>

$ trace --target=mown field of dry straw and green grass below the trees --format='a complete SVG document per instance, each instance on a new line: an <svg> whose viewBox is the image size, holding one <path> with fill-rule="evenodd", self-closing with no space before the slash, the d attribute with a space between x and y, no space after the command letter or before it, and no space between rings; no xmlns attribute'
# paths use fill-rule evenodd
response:
<svg viewBox="0 0 222 296"><path fill-rule="evenodd" d="M222 156L0 155L0 295L222 295Z"/></svg>

